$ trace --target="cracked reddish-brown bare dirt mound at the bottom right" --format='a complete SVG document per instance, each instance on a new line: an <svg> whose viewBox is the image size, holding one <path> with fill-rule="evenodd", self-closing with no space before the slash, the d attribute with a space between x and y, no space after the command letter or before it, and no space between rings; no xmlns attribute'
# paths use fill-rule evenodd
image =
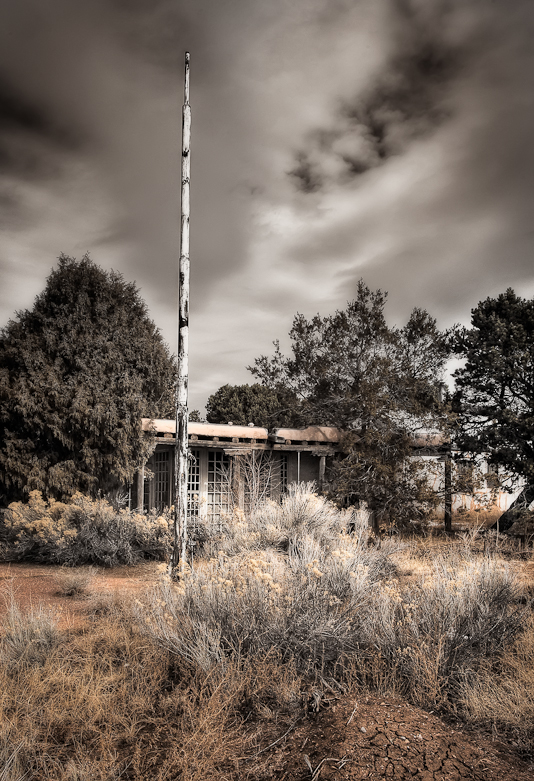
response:
<svg viewBox="0 0 534 781"><path fill-rule="evenodd" d="M269 765L269 771L255 777L276 781L534 778L534 767L522 763L509 747L454 730L402 700L371 696L343 697L299 724L271 749Z"/></svg>

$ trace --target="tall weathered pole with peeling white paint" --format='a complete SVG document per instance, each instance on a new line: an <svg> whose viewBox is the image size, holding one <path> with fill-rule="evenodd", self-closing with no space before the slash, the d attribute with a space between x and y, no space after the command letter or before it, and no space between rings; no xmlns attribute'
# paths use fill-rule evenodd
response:
<svg viewBox="0 0 534 781"><path fill-rule="evenodd" d="M191 176L191 106L189 105L189 52L185 53L182 107L182 191L178 305L178 376L176 379L176 441L174 448L174 547L171 574L184 573L187 556L187 392L189 382L189 188Z"/></svg>

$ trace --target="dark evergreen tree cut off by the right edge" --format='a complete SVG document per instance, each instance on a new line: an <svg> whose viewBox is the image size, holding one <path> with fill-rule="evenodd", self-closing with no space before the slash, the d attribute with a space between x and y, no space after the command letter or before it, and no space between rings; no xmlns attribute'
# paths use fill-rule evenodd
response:
<svg viewBox="0 0 534 781"><path fill-rule="evenodd" d="M534 300L509 288L481 301L455 351L457 446L519 478L523 491L500 521L510 527L534 501Z"/></svg>

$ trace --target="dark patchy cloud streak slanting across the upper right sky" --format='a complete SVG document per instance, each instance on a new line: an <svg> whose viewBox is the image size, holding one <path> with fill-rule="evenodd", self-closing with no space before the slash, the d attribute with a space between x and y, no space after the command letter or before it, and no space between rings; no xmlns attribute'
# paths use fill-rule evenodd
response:
<svg viewBox="0 0 534 781"><path fill-rule="evenodd" d="M342 103L329 127L311 131L289 171L298 189L344 183L401 154L448 119L448 91L465 73L467 44L448 35L454 4L392 0L393 48L373 83Z"/></svg>

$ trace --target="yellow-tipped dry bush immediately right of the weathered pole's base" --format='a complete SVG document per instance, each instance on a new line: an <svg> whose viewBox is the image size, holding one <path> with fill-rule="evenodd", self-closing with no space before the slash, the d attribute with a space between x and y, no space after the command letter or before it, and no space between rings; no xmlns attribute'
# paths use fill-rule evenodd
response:
<svg viewBox="0 0 534 781"><path fill-rule="evenodd" d="M329 533L328 547L308 533L287 553L199 562L180 584L164 582L139 620L156 642L206 671L272 648L303 672L330 668L356 649L374 586L394 571L399 544L377 550L363 536Z"/></svg>

